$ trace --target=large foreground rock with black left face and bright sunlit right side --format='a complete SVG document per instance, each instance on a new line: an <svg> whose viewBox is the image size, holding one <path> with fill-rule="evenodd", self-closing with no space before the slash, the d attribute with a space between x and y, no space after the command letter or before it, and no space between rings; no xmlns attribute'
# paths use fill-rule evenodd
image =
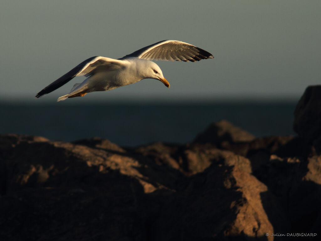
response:
<svg viewBox="0 0 321 241"><path fill-rule="evenodd" d="M151 240L273 240L265 237L273 226L260 198L267 187L250 174L249 160L219 150L209 155L217 158L168 198Z"/></svg>

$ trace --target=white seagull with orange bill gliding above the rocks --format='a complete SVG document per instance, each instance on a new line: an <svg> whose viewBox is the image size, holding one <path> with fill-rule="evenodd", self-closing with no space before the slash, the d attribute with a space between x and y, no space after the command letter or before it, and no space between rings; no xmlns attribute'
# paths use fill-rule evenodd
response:
<svg viewBox="0 0 321 241"><path fill-rule="evenodd" d="M147 78L160 80L169 88L160 67L151 60L195 62L207 58L214 57L203 49L177 40L163 40L118 59L94 56L45 87L36 94L36 98L58 89L75 76L87 78L82 83L74 84L70 93L59 97L57 101L94 91L116 89Z"/></svg>

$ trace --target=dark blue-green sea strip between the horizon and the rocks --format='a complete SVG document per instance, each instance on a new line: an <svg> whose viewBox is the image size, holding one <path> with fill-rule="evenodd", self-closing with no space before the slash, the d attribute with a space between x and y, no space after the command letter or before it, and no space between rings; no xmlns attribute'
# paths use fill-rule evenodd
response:
<svg viewBox="0 0 321 241"><path fill-rule="evenodd" d="M293 135L297 101L167 103L0 102L0 133L73 141L107 138L120 146L156 141L187 143L226 119L257 137Z"/></svg>

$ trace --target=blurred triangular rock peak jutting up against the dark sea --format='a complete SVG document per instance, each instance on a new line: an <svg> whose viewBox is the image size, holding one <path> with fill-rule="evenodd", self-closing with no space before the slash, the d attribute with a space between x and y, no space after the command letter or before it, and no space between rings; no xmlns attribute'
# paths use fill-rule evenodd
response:
<svg viewBox="0 0 321 241"><path fill-rule="evenodd" d="M234 126L226 120L221 120L211 124L205 131L199 134L194 143L213 143L220 144L222 142L248 142L255 138L247 131Z"/></svg>

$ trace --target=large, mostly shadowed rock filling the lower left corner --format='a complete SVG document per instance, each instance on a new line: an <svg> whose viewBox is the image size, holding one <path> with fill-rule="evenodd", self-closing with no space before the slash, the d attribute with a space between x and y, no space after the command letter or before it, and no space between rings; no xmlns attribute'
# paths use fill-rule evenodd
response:
<svg viewBox="0 0 321 241"><path fill-rule="evenodd" d="M158 207L147 194L173 192L179 174L163 177L144 157L38 139L0 136L0 240L147 239L145 213Z"/></svg>

